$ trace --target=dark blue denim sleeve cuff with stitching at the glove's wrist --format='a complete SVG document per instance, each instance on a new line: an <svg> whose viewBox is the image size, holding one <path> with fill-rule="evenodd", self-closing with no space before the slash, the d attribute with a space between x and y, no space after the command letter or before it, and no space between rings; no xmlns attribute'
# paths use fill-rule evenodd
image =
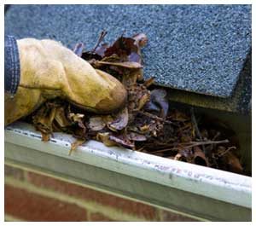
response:
<svg viewBox="0 0 256 226"><path fill-rule="evenodd" d="M20 84L20 58L17 41L4 37L4 92L15 95Z"/></svg>

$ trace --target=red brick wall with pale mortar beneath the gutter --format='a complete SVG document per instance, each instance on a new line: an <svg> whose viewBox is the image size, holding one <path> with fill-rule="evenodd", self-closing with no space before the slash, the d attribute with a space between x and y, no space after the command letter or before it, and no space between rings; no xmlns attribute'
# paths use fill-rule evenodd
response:
<svg viewBox="0 0 256 226"><path fill-rule="evenodd" d="M6 221L195 221L17 167L4 173Z"/></svg>

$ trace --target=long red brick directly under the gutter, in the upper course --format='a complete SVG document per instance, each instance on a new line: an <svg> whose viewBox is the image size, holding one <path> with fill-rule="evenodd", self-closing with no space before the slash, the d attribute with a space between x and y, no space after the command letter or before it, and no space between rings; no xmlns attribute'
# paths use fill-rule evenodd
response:
<svg viewBox="0 0 256 226"><path fill-rule="evenodd" d="M105 194L94 189L84 188L73 183L66 183L53 177L46 177L32 172L28 173L28 179L31 183L43 188L49 188L79 199L94 201L103 206L111 206L121 212L126 212L137 217L157 220L157 212L153 206L122 199L112 194Z"/></svg>

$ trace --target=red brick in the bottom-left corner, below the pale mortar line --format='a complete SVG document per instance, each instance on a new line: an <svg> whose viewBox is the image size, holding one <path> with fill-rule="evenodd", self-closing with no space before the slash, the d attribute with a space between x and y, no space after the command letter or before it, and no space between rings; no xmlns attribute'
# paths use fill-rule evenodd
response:
<svg viewBox="0 0 256 226"><path fill-rule="evenodd" d="M4 186L4 211L26 221L86 221L83 208L27 192L25 189Z"/></svg>

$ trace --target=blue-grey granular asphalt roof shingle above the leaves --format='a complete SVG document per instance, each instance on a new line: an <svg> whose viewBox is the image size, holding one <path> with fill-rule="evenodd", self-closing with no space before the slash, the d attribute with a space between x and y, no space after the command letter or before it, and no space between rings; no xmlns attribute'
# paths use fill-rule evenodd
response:
<svg viewBox="0 0 256 226"><path fill-rule="evenodd" d="M228 97L251 49L250 5L14 5L5 33L53 38L73 48L95 45L108 31L112 43L124 31L148 35L145 77L176 89Z"/></svg>

